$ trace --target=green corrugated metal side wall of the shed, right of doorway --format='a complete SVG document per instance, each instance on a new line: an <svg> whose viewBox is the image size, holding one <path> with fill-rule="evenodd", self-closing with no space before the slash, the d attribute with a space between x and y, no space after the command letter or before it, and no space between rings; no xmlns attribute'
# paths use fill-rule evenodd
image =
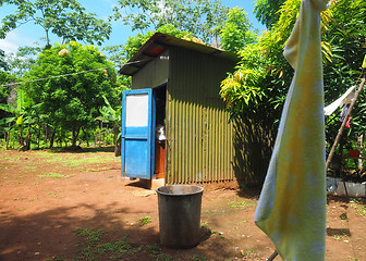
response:
<svg viewBox="0 0 366 261"><path fill-rule="evenodd" d="M233 125L219 97L234 62L170 49L167 184L234 179Z"/></svg>

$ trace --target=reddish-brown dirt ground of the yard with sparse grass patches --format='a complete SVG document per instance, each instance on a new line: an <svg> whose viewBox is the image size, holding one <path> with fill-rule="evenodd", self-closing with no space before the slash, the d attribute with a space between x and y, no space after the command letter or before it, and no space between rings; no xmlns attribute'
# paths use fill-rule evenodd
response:
<svg viewBox="0 0 366 261"><path fill-rule="evenodd" d="M108 149L0 150L0 177L1 261L266 260L273 252L253 222L259 191L232 184L205 187L197 247L161 247L157 195L122 178ZM365 261L365 200L329 197L327 212L326 260Z"/></svg>

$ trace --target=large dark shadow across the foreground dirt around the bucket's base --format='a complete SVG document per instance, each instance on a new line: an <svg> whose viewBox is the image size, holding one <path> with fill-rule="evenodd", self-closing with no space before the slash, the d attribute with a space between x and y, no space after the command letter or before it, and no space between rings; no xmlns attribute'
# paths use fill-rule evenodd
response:
<svg viewBox="0 0 366 261"><path fill-rule="evenodd" d="M0 260L110 260L115 254L113 246L119 248L118 257L114 256L119 260L191 260L192 257L225 260L230 256L225 250L229 246L215 239L210 246L220 251L212 252L207 247L163 248L159 245L157 220L142 225L124 219L133 214L142 216L146 212L120 208L118 203L103 209L83 203L28 215L0 212ZM77 233L93 229L91 235ZM90 241L97 234L100 240ZM203 229L202 236L200 245L205 245L210 234Z"/></svg>

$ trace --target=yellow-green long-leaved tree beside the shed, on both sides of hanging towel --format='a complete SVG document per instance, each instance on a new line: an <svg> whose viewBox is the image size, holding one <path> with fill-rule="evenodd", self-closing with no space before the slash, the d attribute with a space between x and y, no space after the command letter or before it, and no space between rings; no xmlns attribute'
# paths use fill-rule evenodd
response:
<svg viewBox="0 0 366 261"><path fill-rule="evenodd" d="M241 62L236 71L222 82L221 96L232 115L252 119L261 128L273 129L273 135L293 75L282 52L296 21L300 4L301 0L286 0L280 7L278 21L271 24L270 30L257 44L247 45L240 51ZM326 104L355 85L361 74L365 48L358 41L364 42L366 35L365 12L366 2L363 0L340 0L321 13ZM345 27L357 40L329 17ZM364 99L362 94L352 113L352 127L343 137L344 146L351 146L351 140L366 130ZM326 120L327 140L332 144L340 127L339 116Z"/></svg>

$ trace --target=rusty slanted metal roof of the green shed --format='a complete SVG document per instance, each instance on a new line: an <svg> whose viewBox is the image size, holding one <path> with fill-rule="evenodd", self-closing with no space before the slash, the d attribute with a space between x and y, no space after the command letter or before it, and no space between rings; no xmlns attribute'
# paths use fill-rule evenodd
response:
<svg viewBox="0 0 366 261"><path fill-rule="evenodd" d="M176 38L162 33L156 33L154 36L150 37L150 39L148 39L144 44L144 46L139 48L139 50L129 60L129 62L120 69L119 73L125 75L134 75L148 62L156 59L162 52L169 49L169 47L185 48L200 53L206 53L208 55L222 57L232 61L237 61L237 57L235 53L227 52L210 46L183 40L181 38Z"/></svg>

